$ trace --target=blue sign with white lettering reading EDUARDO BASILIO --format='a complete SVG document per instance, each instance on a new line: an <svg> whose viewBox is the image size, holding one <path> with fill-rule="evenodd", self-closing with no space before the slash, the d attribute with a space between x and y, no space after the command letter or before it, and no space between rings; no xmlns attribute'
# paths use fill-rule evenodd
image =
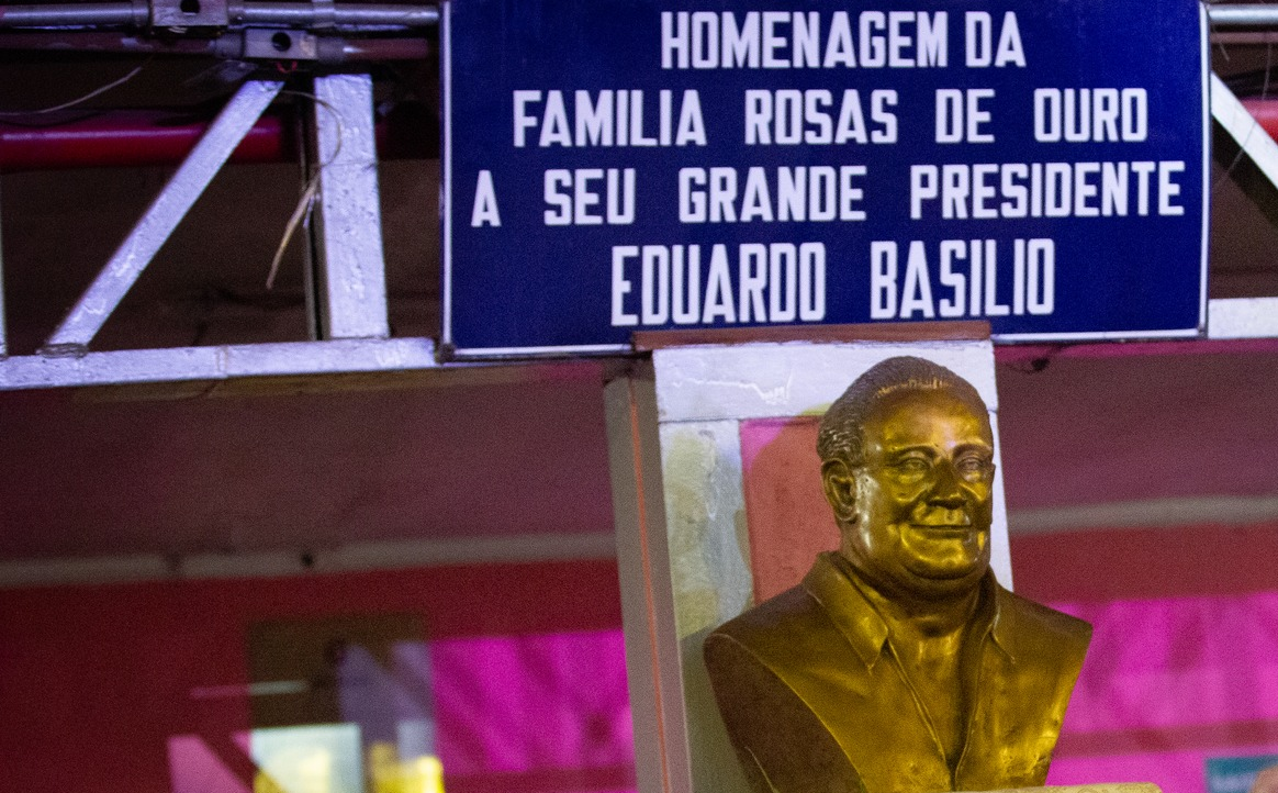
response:
<svg viewBox="0 0 1278 793"><path fill-rule="evenodd" d="M1195 0L451 0L441 24L458 354L1203 327Z"/></svg>

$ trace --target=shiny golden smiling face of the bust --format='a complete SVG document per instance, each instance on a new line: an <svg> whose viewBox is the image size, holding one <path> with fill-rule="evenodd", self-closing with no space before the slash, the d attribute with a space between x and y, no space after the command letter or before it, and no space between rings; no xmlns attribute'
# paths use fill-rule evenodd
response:
<svg viewBox="0 0 1278 793"><path fill-rule="evenodd" d="M970 591L989 568L988 414L946 390L901 391L870 412L863 432L842 553L888 595Z"/></svg>

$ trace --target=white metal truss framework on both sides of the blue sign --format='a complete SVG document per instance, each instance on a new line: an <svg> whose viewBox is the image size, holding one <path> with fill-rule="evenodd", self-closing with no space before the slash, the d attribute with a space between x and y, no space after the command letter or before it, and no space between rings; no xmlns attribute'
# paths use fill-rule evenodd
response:
<svg viewBox="0 0 1278 793"><path fill-rule="evenodd" d="M1213 36L1268 36L1278 29L1278 5L1215 4L1205 8ZM235 58L318 61L339 59L335 55L339 51L355 58L362 51L367 58L376 58L371 52L420 56L424 52L422 31L435 26L438 17L433 5L331 0L6 5L0 13L0 47L6 41L17 41L5 36L24 37L20 41L26 43L15 46L40 49L40 41L65 43L68 36L84 35L107 36L107 42L128 40L137 42L132 49L146 50L150 46L146 36L121 31L173 33L183 29L204 31L190 47L203 55L225 52L224 56ZM286 41L279 33L286 33ZM362 38L369 33L380 37ZM217 43L222 37L226 43ZM281 88L282 82L277 79L243 83L37 354L8 356L0 290L0 390L441 366L431 339L390 338L372 78L367 73L314 78L317 101L311 124L316 139L316 173L311 189L317 207L312 238L316 261L308 289L311 315L316 317L314 339L286 344L89 350L107 317ZM1213 118L1278 185L1278 145L1215 75L1210 106ZM1278 298L1210 302L1208 338L1258 336L1278 336Z"/></svg>

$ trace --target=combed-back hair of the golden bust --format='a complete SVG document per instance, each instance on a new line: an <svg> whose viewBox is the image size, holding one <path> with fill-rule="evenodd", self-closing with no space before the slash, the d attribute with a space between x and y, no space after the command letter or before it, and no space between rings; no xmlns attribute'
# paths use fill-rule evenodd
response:
<svg viewBox="0 0 1278 793"><path fill-rule="evenodd" d="M939 363L912 356L875 363L847 386L843 395L820 417L820 428L817 431L817 454L820 455L820 462L840 459L859 468L865 462L861 427L879 402L900 391L941 390L950 391L982 413L988 409L985 400L970 382Z"/></svg>

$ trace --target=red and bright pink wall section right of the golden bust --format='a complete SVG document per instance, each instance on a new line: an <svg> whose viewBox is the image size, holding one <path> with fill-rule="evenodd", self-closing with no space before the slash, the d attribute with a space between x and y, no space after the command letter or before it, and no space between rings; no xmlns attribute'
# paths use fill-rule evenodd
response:
<svg viewBox="0 0 1278 793"><path fill-rule="evenodd" d="M1094 628L1048 781L1203 793L1278 752L1274 559L1275 524L1013 536L1017 591Z"/></svg>

